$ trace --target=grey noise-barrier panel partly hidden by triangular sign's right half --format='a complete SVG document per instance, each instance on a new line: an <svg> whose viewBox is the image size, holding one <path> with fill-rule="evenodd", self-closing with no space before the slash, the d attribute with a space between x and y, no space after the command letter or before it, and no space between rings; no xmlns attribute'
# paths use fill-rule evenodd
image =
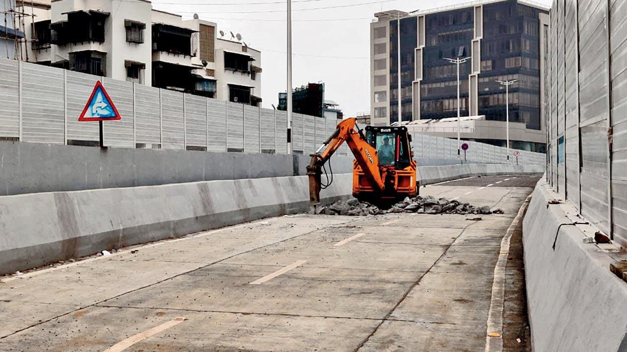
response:
<svg viewBox="0 0 627 352"><path fill-rule="evenodd" d="M103 77L102 85L122 116L120 120L103 122L105 146L135 148L133 83Z"/></svg>

